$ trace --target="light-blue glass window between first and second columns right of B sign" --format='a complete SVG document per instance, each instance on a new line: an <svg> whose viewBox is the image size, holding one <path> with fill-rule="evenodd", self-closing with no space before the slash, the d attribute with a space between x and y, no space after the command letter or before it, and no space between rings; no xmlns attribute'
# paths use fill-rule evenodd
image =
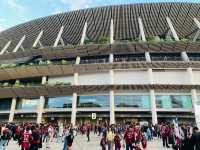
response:
<svg viewBox="0 0 200 150"><path fill-rule="evenodd" d="M115 107L150 108L148 95L115 95Z"/></svg>

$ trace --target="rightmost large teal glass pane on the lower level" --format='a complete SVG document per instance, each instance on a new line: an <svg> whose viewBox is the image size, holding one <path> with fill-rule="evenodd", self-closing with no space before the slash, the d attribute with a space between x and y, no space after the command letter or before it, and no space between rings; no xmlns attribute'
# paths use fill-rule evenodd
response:
<svg viewBox="0 0 200 150"><path fill-rule="evenodd" d="M158 108L192 108L190 95L156 95Z"/></svg>

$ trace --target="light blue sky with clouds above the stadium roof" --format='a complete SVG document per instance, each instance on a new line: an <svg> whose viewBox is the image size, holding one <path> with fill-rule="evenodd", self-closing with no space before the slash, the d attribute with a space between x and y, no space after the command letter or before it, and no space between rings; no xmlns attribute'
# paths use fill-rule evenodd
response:
<svg viewBox="0 0 200 150"><path fill-rule="evenodd" d="M0 0L0 31L38 17L60 12L105 5L143 2L200 3L200 0Z"/></svg>

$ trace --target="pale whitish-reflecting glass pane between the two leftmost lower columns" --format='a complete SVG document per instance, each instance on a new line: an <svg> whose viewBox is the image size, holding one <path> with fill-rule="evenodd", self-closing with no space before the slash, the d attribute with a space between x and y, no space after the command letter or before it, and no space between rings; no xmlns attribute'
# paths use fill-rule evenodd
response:
<svg viewBox="0 0 200 150"><path fill-rule="evenodd" d="M38 99L19 99L17 100L16 109L36 110L39 100L40 100L39 98Z"/></svg>

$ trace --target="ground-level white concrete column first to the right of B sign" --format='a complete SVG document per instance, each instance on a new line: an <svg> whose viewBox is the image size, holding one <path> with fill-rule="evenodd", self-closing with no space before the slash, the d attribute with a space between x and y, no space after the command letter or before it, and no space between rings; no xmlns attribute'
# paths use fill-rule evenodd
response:
<svg viewBox="0 0 200 150"><path fill-rule="evenodd" d="M115 124L115 102L114 91L110 91L110 124Z"/></svg>

